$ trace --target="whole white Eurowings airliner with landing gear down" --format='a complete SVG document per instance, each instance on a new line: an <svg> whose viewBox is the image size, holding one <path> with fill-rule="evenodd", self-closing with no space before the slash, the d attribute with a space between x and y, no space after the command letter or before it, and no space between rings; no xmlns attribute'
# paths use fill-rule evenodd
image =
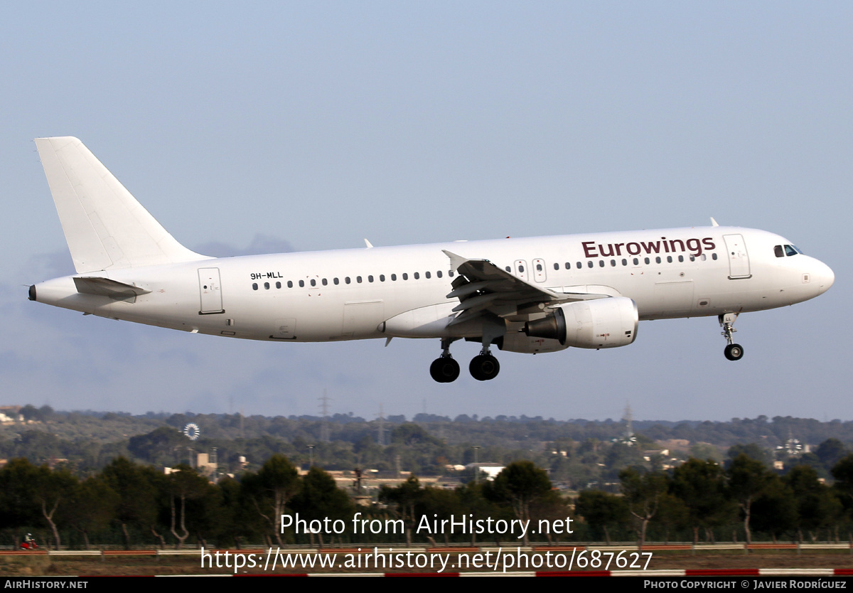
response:
<svg viewBox="0 0 853 593"><path fill-rule="evenodd" d="M718 316L726 358L734 320L813 299L833 270L763 230L635 230L213 259L178 243L73 137L38 138L77 274L30 287L40 303L247 340L435 338L435 381L455 381L455 340L490 352L631 344L641 320Z"/></svg>

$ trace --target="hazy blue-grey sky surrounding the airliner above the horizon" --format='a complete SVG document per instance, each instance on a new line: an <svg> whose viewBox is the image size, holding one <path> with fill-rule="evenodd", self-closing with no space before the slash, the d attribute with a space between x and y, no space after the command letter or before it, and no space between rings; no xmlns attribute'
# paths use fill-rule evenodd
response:
<svg viewBox="0 0 853 593"><path fill-rule="evenodd" d="M6 3L3 403L56 409L853 420L850 3ZM73 272L33 137L77 136L220 253L721 224L833 267L820 299L642 323L632 346L267 344L26 301ZM478 346L456 345L467 361Z"/></svg>

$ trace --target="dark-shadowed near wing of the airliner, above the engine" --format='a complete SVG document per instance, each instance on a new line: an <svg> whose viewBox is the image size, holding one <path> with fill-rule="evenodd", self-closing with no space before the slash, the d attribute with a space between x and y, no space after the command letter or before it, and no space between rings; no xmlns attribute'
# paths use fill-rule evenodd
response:
<svg viewBox="0 0 853 593"><path fill-rule="evenodd" d="M459 273L452 282L448 299L459 299L453 311L461 311L450 322L456 325L489 312L498 317L516 315L519 311L539 304L552 305L575 300L604 299L609 294L556 293L525 282L502 270L488 259L465 259L447 250L450 265Z"/></svg>

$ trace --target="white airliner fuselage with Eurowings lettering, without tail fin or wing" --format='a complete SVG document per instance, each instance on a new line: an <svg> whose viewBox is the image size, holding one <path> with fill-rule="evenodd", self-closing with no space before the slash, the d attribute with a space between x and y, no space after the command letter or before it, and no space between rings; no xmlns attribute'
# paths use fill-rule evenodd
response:
<svg viewBox="0 0 853 593"><path fill-rule="evenodd" d="M554 293L628 297L647 320L760 311L825 292L834 279L827 265L802 253L775 254L775 247L790 243L763 230L720 226L456 241L75 275L150 291L133 299L81 294L74 276L39 283L34 290L36 300L49 305L249 340L476 337L476 329L453 334L444 328L459 299L447 298L456 272L443 250L487 259ZM403 315L411 311L421 313ZM383 325L395 318L397 323Z"/></svg>

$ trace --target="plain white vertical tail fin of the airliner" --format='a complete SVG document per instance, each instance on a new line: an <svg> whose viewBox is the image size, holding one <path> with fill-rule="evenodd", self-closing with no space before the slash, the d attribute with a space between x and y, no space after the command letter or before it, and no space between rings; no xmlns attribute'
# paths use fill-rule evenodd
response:
<svg viewBox="0 0 853 593"><path fill-rule="evenodd" d="M78 273L208 259L175 241L77 138L36 146Z"/></svg>

